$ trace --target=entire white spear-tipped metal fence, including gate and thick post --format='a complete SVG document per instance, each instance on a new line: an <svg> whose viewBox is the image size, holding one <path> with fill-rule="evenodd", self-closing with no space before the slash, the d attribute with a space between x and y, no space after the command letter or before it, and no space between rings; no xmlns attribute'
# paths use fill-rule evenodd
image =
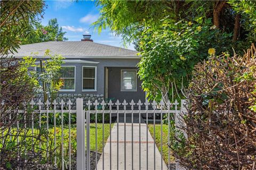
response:
<svg viewBox="0 0 256 170"><path fill-rule="evenodd" d="M181 100L181 108L180 110L178 110L178 106L179 106L179 103L177 100L174 101L174 103L171 103L170 100L167 101L167 103L164 103L163 100L160 101L160 103L157 103L155 100L153 100L152 103L149 103L148 100L145 101L145 103L141 103L141 100L138 101L138 103L135 103L134 100L131 100L130 103L128 103L126 100L123 101L123 103L121 103L119 100L116 100L116 103L113 103L113 101L109 100L109 102L105 102L104 100L102 100L101 103L99 103L98 100L95 100L94 103L92 101L88 101L86 103L87 105L87 108L88 108L88 111L84 111L83 109L83 99L82 98L77 98L76 99L76 109L75 110L71 110L71 101L70 99L67 101L66 105L65 105L65 102L63 100L60 101L59 105L60 105L60 109L57 110L57 101L54 100L53 101L53 109L50 109L50 106L51 106L51 103L49 102L49 100L46 100L45 103L42 103L42 100L39 99L38 100L38 103L36 103L36 105L38 106L38 110L35 110L32 112L32 115L31 115L31 133L32 133L32 141L34 143L34 137L33 135L35 134L34 132L34 121L37 119L35 119L35 117L39 116L39 119L38 119L38 125L39 125L39 130L41 128L44 128L44 124L42 125L42 123L44 122L45 123L45 116L46 116L46 130L49 131L49 113L53 113L53 124L54 124L54 164L56 165L57 164L57 155L56 155L56 148L57 148L57 120L59 122L59 119L57 119L57 113L61 113L61 160L59 160L60 158L58 158L58 163L61 164L61 169L70 169L71 170L71 162L72 162L72 158L71 158L71 113L76 113L76 129L77 129L77 158L76 158L76 161L77 161L77 169L90 169L91 168L91 160L90 160L90 115L91 114L95 114L95 169L98 169L97 168L97 164L98 164L98 115L99 114L102 114L102 146L104 147L105 146L105 142L104 142L104 136L105 136L105 114L109 114L109 167L107 167L107 169L111 169L111 168L114 168L116 169L119 169L120 167L120 164L124 164L124 169L126 169L127 167L130 167L132 169L137 169L138 167L138 164L135 164L137 162L139 162L139 169L141 169L143 167L143 158L142 158L142 154L143 154L143 151L144 151L144 148L142 145L142 143L146 143L146 149L145 149L145 152L146 152L146 169L149 169L149 164L152 162L153 163L153 158L149 160L150 158L150 155L149 153L151 152L151 149L149 149L149 143L154 143L154 147L150 146L150 148L154 148L154 169L165 169L164 166L164 162L163 162L163 154L164 154L164 145L163 144L163 114L165 114L167 116L167 123L168 123L168 134L167 134L167 145L170 146L171 143L170 143L170 131L171 131L171 118L172 116L170 114L175 114L175 126L177 128L180 128L180 116L182 114L185 114L186 112L186 108L185 106L183 106L185 104L185 100ZM30 102L30 105L32 107L34 107L35 103L34 101L32 100ZM102 110L99 109L99 105L102 106ZM106 105L108 105L108 109L106 109ZM115 107L113 107L113 105L116 106L116 109ZM122 105L123 108L121 109L119 106ZM127 109L127 105L129 105L129 109ZM137 107L134 108L134 105L137 105ZM145 106L145 108L141 108L142 106ZM149 109L149 106L152 106L153 109ZM171 110L171 107L173 107L174 105L174 110ZM64 109L64 106L68 106L68 109ZM95 106L92 110L92 106ZM131 106L131 107L130 107ZM160 106L159 108L157 108L158 106ZM167 108L165 108L165 106L167 106ZM17 116L21 116L21 114L19 113L22 113L23 111L19 111ZM65 160L66 158L64 157L64 153L66 153L66 149L64 148L64 137L66 136L64 133L64 127L65 127L65 123L66 121L64 120L64 116L66 115L66 113L68 113L68 163L65 164ZM85 115L86 113L86 115ZM115 123L115 127L113 128L111 123L112 123L112 120L111 120L111 117L113 116L113 114L116 113L116 123ZM119 120L119 114L124 114L124 124L122 124L122 126L124 125L124 141L122 141L122 143L124 143L124 163L119 162L119 145L120 145L120 141L119 141L119 125L120 125L120 120ZM43 114L43 115L42 115ZM127 114L130 114L131 115L131 124L129 121L126 120L126 118L129 116ZM134 115L134 114L138 114L138 115ZM145 116L145 115L141 115L141 114L146 114L146 141L143 141L143 136L141 137L141 134L144 134L144 130L141 129L143 128L143 126L141 126L141 117L142 116ZM149 127L151 125L149 125L149 114L153 114L153 138L154 138L154 141L149 141ZM158 115L159 114L159 115ZM12 120L13 117L11 117L12 115L10 114L10 117L9 117L9 122ZM85 119L85 116L86 116L86 119ZM134 124L135 123L138 123L137 122L137 119L135 119L134 116L139 116L139 141L135 141L135 139L137 140L137 136L134 135L133 133L136 134L136 129L134 126L137 126L137 124ZM160 117L156 117L156 116L160 116ZM128 117L130 118L130 117ZM160 124L158 126L158 123L156 123L156 121L159 121L159 120L156 120L156 118L160 118ZM22 125L27 126L27 120L30 120L30 118L24 114L23 115L23 119L24 119L24 123L22 122ZM65 121L65 122L64 122ZM86 121L86 126L85 126L85 121ZM129 124L128 124L129 123ZM21 125L21 122L20 122L20 125ZM17 132L19 131L19 121L17 122ZM30 123L28 124L30 126ZM38 126L37 123L36 123L36 126ZM15 125L16 126L16 125ZM128 132L127 129L129 129L129 126L131 126L131 141L130 140L127 140L128 137L126 137L126 134ZM59 127L59 124L58 124L58 127ZM161 136L160 136L160 147L159 147L159 152L161 155L156 155L158 154L158 149L156 148L156 134L157 134L157 131L156 129L157 128L161 128ZM85 134L85 128L86 128L86 134ZM115 129L117 130L117 134L113 136L113 132L116 132L116 131L113 131L111 132L111 130ZM36 128L37 129L37 128ZM142 132L141 132L142 130ZM12 133L13 131L12 130L8 130L6 133ZM130 132L130 130L129 130ZM25 130L25 134L26 134L26 130ZM4 133L2 132L2 136L4 135ZM13 135L13 134L12 134ZM85 135L86 135L86 146L85 146ZM123 134L122 134L123 135ZM26 136L25 136L26 138ZM113 139L117 139L115 141L115 143L117 143L117 151L114 152L113 151L113 146L115 145L114 142L112 141L112 138ZM14 138L15 139L15 138ZM27 138L28 139L28 138ZM129 138L130 139L130 138ZM151 137L150 137L151 139ZM11 140L11 139L10 139ZM19 137L17 137L17 142L19 142ZM126 141L127 140L127 141ZM26 141L26 139L25 139ZM58 138L58 141L59 141L59 138ZM142 142L143 141L143 142ZM3 141L2 141L3 142ZM1 143L2 143L1 142ZM126 155L126 151L127 151L127 146L129 146L128 143L131 143L131 152L128 152L128 156ZM136 148L135 144L134 143L138 143L139 144L139 160L137 160L137 150L134 150L134 148ZM3 144L2 144L3 145ZM41 143L41 140L40 140L40 137L39 137L39 149L42 149L44 147L41 146L42 143ZM107 146L107 145L106 145ZM58 144L58 147L59 147L59 144ZM115 147L114 147L115 148ZM143 149L142 149L143 148ZM129 150L130 151L130 150ZM156 153L157 151L157 153ZM168 147L168 160L167 160L167 164L168 164L168 167L170 167L171 165L171 152L170 152L170 148ZM47 137L47 141L46 141L46 156L49 157L49 154L50 153L50 150L49 150L49 140L48 140L48 137ZM130 155L131 153L131 155ZM115 154L117 154L117 157L115 155L115 157L112 158L112 156L114 156ZM25 146L25 155L26 155L26 146ZM105 151L102 150L102 155L101 155L101 158L102 159L102 169L106 168L104 165L105 165L105 159L104 159L104 155L105 155ZM106 155L105 155L106 156ZM126 162L126 158L127 157L130 157L131 156L131 165L130 164L127 164ZM144 156L144 155L143 155ZM152 155L153 157L153 155ZM161 165L159 164L160 161L158 161L158 158L161 157ZM114 158L117 158L116 160L114 160ZM157 162L156 162L156 158L157 158ZM141 160L142 159L142 160ZM113 165L113 163L115 164L115 161L117 162L116 165ZM135 161L135 162L134 162ZM26 162L26 160L25 160ZM86 162L86 163L85 163ZM60 165L59 164L59 165ZM156 167L157 165L157 167ZM113 166L113 167L112 167ZM161 166L161 168L160 168ZM150 167L151 168L151 167ZM177 169L181 169L181 167L179 166L178 164L178 160L177 160Z"/></svg>

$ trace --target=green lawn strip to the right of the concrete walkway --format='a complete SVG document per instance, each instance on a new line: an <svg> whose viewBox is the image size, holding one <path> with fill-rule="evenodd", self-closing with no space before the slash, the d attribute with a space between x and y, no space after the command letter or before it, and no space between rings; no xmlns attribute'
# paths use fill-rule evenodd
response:
<svg viewBox="0 0 256 170"><path fill-rule="evenodd" d="M153 124L149 124L148 125L148 129L149 132L152 136L152 138L154 139L154 125ZM161 153L161 125L160 124L156 124L155 125L155 142L156 142L156 146L159 150L159 152ZM163 124L163 159L165 164L168 164L168 125ZM173 157L170 158L171 161L174 160Z"/></svg>

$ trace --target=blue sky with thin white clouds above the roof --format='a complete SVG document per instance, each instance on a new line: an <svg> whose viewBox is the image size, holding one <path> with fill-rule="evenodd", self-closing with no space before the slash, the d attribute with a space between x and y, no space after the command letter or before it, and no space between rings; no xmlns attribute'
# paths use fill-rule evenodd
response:
<svg viewBox="0 0 256 170"><path fill-rule="evenodd" d="M99 34L91 25L100 15L99 7L92 1L46 1L42 24L57 18L59 26L66 31L65 37L68 41L81 41L83 34L92 35L95 43L106 44L116 47L124 47L121 37L116 37L109 28L102 30ZM133 49L133 44L126 45Z"/></svg>

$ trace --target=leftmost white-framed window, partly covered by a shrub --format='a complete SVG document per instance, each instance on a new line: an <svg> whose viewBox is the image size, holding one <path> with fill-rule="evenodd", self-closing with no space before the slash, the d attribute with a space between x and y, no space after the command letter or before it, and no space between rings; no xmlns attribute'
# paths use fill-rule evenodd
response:
<svg viewBox="0 0 256 170"><path fill-rule="evenodd" d="M63 86L60 91L75 91L75 66L61 66Z"/></svg>

